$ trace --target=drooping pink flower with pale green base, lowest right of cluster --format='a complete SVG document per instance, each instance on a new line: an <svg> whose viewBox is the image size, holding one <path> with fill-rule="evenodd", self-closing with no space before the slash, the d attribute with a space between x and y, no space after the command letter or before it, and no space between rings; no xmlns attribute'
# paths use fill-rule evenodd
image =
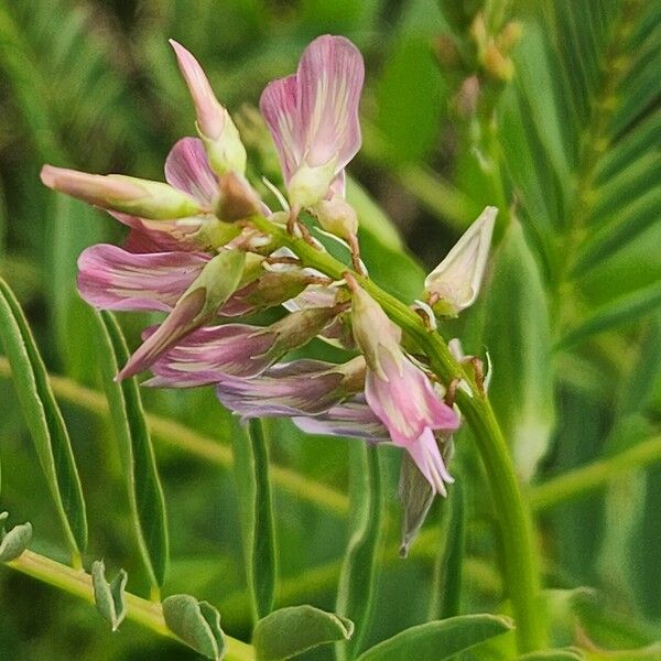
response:
<svg viewBox="0 0 661 661"><path fill-rule="evenodd" d="M434 492L445 495L445 484L453 479L434 431L456 430L458 416L402 351L400 330L379 304L353 278L347 282L353 292L354 337L367 361L365 399L392 443L407 449Z"/></svg>

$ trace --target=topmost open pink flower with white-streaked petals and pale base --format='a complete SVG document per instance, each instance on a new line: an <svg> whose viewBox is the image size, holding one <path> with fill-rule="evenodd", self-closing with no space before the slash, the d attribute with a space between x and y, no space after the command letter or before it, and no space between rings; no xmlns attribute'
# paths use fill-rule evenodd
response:
<svg viewBox="0 0 661 661"><path fill-rule="evenodd" d="M294 205L312 206L360 149L358 104L365 66L344 36L324 35L304 51L295 74L270 83L260 109Z"/></svg>

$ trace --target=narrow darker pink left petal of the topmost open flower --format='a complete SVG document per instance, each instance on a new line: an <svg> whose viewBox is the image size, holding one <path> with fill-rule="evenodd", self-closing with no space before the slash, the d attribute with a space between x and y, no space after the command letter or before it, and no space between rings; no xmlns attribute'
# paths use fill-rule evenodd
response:
<svg viewBox="0 0 661 661"><path fill-rule="evenodd" d="M297 111L296 76L269 83L259 99L259 107L275 142L286 183L299 167L304 149Z"/></svg>

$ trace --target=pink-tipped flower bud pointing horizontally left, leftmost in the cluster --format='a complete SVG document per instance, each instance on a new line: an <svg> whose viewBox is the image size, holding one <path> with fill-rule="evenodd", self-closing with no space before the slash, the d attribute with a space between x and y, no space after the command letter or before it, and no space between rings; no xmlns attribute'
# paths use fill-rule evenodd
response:
<svg viewBox="0 0 661 661"><path fill-rule="evenodd" d="M204 210L189 195L169 184L132 176L87 174L44 165L41 180L48 188L104 209L151 220L186 218Z"/></svg>

